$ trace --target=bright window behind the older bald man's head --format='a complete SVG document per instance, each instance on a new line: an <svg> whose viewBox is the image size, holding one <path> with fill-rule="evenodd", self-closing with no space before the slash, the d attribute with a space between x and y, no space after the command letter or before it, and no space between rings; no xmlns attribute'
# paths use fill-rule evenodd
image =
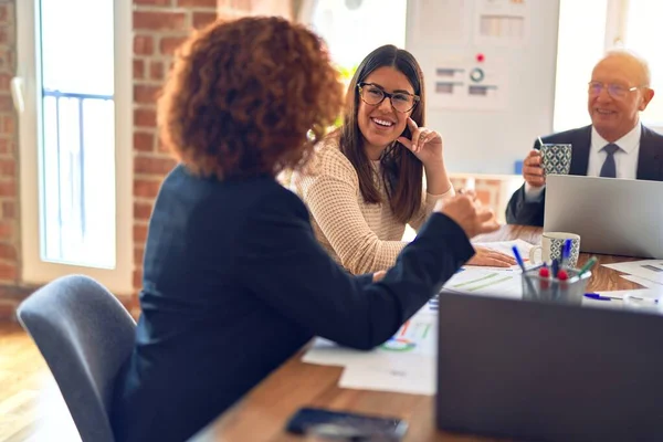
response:
<svg viewBox="0 0 663 442"><path fill-rule="evenodd" d="M593 65L610 49L625 48L643 56L650 64L652 87L663 85L663 60L657 54L657 42L663 39L657 23L662 13L663 2L659 0L560 0L556 131L591 123L587 83ZM654 97L641 118L650 127L663 128L663 99Z"/></svg>

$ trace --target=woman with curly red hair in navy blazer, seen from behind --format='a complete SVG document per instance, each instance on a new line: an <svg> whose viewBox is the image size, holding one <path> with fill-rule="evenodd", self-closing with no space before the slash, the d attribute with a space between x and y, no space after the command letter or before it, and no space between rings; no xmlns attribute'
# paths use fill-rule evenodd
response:
<svg viewBox="0 0 663 442"><path fill-rule="evenodd" d="M322 41L286 20L218 22L180 49L158 103L180 164L149 223L117 441L188 439L315 335L383 343L472 256L469 236L496 229L463 196L434 209L381 281L338 266L275 177L304 165L341 106Z"/></svg>

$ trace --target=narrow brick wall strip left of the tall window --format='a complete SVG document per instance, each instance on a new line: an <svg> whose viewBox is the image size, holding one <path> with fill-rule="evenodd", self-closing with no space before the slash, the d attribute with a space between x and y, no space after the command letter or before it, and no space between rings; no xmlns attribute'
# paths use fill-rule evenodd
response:
<svg viewBox="0 0 663 442"><path fill-rule="evenodd" d="M0 0L0 318L13 314L19 299L14 287L20 277L18 122L10 92L15 23L15 0Z"/></svg>

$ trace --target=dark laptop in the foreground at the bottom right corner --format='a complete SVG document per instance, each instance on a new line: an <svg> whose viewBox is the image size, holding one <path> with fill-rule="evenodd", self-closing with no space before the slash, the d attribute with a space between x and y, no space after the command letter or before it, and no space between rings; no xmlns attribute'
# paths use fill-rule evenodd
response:
<svg viewBox="0 0 663 442"><path fill-rule="evenodd" d="M439 429L663 440L663 316L448 292L439 302Z"/></svg>

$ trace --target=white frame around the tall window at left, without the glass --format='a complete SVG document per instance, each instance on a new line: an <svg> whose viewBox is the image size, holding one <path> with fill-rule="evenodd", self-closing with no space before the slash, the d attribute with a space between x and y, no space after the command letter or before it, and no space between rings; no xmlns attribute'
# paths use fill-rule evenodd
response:
<svg viewBox="0 0 663 442"><path fill-rule="evenodd" d="M40 173L41 173L41 84L38 56L36 1L17 1L17 77L12 82L19 117L20 206L21 206L21 280L27 284L45 284L66 274L85 274L104 284L116 295L134 292L133 241L133 141L131 141L131 0L115 0L115 194L116 265L105 270L41 259ZM18 81L17 81L18 78ZM22 104L19 106L19 103Z"/></svg>

